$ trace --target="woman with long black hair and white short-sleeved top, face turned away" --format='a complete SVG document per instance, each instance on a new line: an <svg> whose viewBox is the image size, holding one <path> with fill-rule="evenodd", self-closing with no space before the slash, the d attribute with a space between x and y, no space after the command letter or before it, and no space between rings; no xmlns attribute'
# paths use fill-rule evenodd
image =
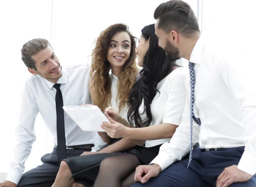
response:
<svg viewBox="0 0 256 187"><path fill-rule="evenodd" d="M167 60L154 32L154 24L142 29L137 54L138 64L143 66L143 70L128 100L128 122L138 128L129 128L128 122L123 122L112 108L106 110L111 123L104 122L102 126L112 138L129 138L137 144L145 143L145 151L105 158L100 164L94 187L128 187L133 184L136 167L149 164L157 156L160 146L170 141L180 124L188 71L177 66L176 59ZM122 121L124 125L114 120Z"/></svg>

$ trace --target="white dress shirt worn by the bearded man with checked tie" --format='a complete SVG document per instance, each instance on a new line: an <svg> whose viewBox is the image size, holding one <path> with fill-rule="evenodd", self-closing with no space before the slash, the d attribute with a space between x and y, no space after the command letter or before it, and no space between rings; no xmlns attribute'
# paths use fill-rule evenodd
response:
<svg viewBox="0 0 256 187"><path fill-rule="evenodd" d="M207 41L202 35L190 57L195 63L195 116L193 143L202 149L245 146L238 168L256 173L256 74L255 60L241 55L238 45ZM186 104L180 126L170 143L160 147L151 162L162 170L189 152L190 78L186 77Z"/></svg>

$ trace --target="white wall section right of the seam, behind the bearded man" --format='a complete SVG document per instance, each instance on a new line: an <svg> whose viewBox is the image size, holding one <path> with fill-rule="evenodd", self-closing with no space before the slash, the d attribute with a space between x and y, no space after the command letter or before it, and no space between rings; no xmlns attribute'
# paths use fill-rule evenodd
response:
<svg viewBox="0 0 256 187"><path fill-rule="evenodd" d="M253 54L256 51L255 7L256 0L203 0L201 31Z"/></svg>

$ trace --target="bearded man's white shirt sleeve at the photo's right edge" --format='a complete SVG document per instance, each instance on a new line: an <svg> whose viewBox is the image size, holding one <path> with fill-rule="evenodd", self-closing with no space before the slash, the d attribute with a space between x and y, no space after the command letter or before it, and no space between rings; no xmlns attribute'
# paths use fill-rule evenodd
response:
<svg viewBox="0 0 256 187"><path fill-rule="evenodd" d="M256 63L234 51L218 60L221 78L241 106L244 123L244 153L238 168L250 175L256 174ZM239 58L239 56L241 56Z"/></svg>

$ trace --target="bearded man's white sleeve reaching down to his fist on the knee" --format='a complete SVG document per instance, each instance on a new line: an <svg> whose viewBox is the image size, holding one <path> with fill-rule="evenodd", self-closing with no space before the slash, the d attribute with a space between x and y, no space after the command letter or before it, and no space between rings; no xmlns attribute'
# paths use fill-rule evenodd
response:
<svg viewBox="0 0 256 187"><path fill-rule="evenodd" d="M200 126L193 123L193 145L198 142ZM183 110L183 116L179 127L177 127L170 143L164 143L159 150L159 154L151 164L158 164L162 171L173 164L175 161L181 160L190 148L190 97L186 94L186 103Z"/></svg>

